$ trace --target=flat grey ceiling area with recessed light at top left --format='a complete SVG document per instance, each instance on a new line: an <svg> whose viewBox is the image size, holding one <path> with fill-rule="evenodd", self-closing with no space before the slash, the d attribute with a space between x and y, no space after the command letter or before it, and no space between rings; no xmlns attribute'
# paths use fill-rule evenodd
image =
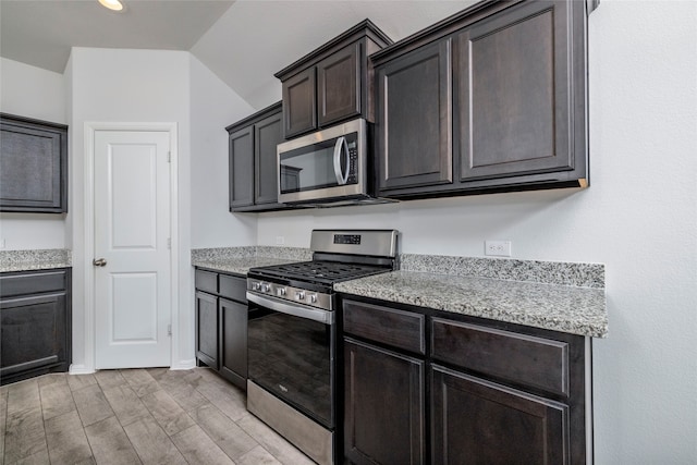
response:
<svg viewBox="0 0 697 465"><path fill-rule="evenodd" d="M62 73L71 47L191 50L232 5L219 0L0 0L0 54Z"/></svg>

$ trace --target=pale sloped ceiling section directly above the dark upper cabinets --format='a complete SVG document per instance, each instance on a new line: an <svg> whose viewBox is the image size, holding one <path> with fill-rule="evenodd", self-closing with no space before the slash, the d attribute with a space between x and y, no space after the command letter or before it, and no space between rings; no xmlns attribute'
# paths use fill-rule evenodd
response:
<svg viewBox="0 0 697 465"><path fill-rule="evenodd" d="M281 83L273 73L366 17L398 39L475 1L236 0L192 48L192 53L243 99L262 108L281 99ZM220 44L228 47L219 47Z"/></svg>

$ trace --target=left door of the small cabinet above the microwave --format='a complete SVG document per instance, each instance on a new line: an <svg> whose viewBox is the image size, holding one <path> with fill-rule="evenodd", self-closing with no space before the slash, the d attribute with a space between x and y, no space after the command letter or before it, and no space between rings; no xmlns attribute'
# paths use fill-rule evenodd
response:
<svg viewBox="0 0 697 465"><path fill-rule="evenodd" d="M288 78L282 85L285 138L317 127L315 66Z"/></svg>

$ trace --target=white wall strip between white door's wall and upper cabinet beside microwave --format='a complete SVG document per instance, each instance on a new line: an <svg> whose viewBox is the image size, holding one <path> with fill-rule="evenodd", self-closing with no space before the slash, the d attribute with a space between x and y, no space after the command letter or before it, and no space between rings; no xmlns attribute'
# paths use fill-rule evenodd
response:
<svg viewBox="0 0 697 465"><path fill-rule="evenodd" d="M254 109L191 56L192 247L249 245L256 216L229 212L228 132Z"/></svg>

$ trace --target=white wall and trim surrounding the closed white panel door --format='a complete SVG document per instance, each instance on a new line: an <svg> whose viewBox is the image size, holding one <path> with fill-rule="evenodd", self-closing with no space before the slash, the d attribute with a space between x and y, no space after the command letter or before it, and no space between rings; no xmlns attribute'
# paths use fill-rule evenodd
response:
<svg viewBox="0 0 697 465"><path fill-rule="evenodd" d="M193 297L191 279L191 108L189 53L182 51L73 48L68 64L72 78L71 223L73 232L73 365L89 369L85 347L85 272L91 257L84 250L84 167L86 122L176 123L179 157L179 314L173 311L172 364L193 362ZM179 318L176 316L179 315Z"/></svg>

